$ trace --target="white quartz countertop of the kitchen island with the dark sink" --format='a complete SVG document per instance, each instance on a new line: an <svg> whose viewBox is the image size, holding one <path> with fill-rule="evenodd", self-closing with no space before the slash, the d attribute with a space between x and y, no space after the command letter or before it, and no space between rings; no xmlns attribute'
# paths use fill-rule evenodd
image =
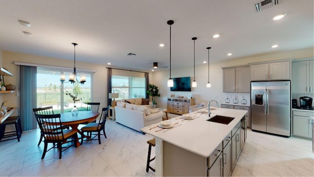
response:
<svg viewBox="0 0 314 177"><path fill-rule="evenodd" d="M156 128L153 127L156 127L158 124L141 128L141 131L180 148L184 148L204 157L209 157L235 125L241 121L241 118L245 116L247 111L218 108L210 112L210 118L219 115L235 119L229 124L222 124L207 121L209 119L208 114L193 112L189 113L191 116L196 116L196 118L192 120L182 121L181 116L170 119L169 121L172 123L178 123L180 125L168 131L156 132ZM150 128L153 129L150 130Z"/></svg>

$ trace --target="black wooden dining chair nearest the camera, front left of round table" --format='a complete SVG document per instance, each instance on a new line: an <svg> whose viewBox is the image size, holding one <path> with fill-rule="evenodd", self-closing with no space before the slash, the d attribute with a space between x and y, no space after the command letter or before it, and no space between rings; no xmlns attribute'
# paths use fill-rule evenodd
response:
<svg viewBox="0 0 314 177"><path fill-rule="evenodd" d="M46 155L46 152L52 148L59 149L59 159L61 159L61 154L64 150L70 148L72 145L68 147L62 147L64 143L69 143L67 140L69 138L74 139L74 146L77 147L78 140L78 131L77 130L67 130L67 129L60 129L58 127L62 127L61 123L61 116L60 114L53 114L53 115L38 115L35 114L35 118L39 125L40 131L44 136L44 151L41 159L43 159ZM52 148L48 149L48 143L53 143ZM64 148L62 150L62 148Z"/></svg>

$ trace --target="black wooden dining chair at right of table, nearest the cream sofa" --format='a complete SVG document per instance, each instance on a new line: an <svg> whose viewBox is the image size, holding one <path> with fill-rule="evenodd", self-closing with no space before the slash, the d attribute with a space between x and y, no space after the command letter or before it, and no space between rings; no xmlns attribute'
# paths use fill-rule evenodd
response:
<svg viewBox="0 0 314 177"><path fill-rule="evenodd" d="M106 136L106 133L105 133L105 123L106 123L106 118L108 116L108 110L109 110L109 107L105 107L102 109L102 115L100 116L98 122L91 122L91 123L88 123L87 125L83 126L80 131L82 133L84 132L87 132L87 133L91 133L91 136L95 135L93 138L89 139L89 140L97 140L97 139L94 139L96 136L98 136L98 142L99 144L101 144L101 140L100 140L100 132L103 130L103 133L105 135L105 138L107 138ZM97 134L93 134L92 132L97 132ZM81 142L80 144L82 145L83 144L83 139L84 137L82 136L81 137Z"/></svg>

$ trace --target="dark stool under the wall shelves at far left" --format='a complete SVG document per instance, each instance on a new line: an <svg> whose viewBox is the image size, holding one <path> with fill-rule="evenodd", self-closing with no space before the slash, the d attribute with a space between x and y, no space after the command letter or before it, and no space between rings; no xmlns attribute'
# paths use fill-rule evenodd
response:
<svg viewBox="0 0 314 177"><path fill-rule="evenodd" d="M15 125L15 131L10 131L10 132L5 132L5 126L6 125ZM2 138L8 138L8 137L13 137L16 136L16 138L10 138L6 140L1 140ZM18 142L20 142L20 138L22 136L22 126L21 126L21 121L20 117L10 117L4 120L0 124L0 142L2 141L8 141L8 140L13 140L13 139L18 139Z"/></svg>

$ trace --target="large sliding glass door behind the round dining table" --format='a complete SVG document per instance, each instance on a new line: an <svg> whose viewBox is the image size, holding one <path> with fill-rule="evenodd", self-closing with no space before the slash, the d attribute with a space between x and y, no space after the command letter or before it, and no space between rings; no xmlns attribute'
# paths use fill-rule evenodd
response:
<svg viewBox="0 0 314 177"><path fill-rule="evenodd" d="M77 72L78 80L80 75L85 75L86 82L80 85L60 82L60 74L65 74L67 79L71 71L63 71L56 68L37 67L37 107L53 106L53 113L71 112L74 107L73 99L66 95L66 91L77 95L79 101L76 102L78 110L86 110L85 102L91 100L91 73Z"/></svg>

